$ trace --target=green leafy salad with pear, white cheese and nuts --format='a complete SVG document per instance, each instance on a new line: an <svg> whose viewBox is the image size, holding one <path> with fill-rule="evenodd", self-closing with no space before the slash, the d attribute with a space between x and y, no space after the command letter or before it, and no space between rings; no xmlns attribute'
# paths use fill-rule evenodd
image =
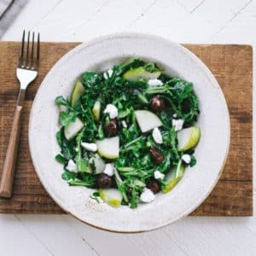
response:
<svg viewBox="0 0 256 256"><path fill-rule="evenodd" d="M70 97L57 96L56 139L70 186L91 198L136 208L168 193L195 166L201 137L193 84L139 58L103 73L84 72Z"/></svg>

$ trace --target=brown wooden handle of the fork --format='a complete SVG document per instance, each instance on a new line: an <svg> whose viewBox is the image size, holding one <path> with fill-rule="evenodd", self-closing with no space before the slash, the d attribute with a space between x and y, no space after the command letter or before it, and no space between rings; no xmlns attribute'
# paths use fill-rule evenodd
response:
<svg viewBox="0 0 256 256"><path fill-rule="evenodd" d="M23 108L22 104L19 104L19 102L23 102L23 99L24 95L21 97L19 95L19 101L15 108L15 116L9 136L9 144L3 163L3 172L0 181L0 196L2 197L11 197L13 191L15 166L20 141L20 120Z"/></svg>

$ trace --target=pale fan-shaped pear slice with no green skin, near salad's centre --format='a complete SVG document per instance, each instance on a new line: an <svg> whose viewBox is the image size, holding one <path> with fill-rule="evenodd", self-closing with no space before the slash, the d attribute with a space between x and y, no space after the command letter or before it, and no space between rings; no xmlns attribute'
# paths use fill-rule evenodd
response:
<svg viewBox="0 0 256 256"><path fill-rule="evenodd" d="M142 132L150 131L163 125L160 118L148 110L136 110L135 116Z"/></svg>

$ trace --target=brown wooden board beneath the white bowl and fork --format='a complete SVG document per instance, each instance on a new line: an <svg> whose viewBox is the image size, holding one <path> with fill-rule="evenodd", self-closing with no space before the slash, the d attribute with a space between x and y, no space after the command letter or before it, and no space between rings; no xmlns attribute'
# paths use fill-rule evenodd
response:
<svg viewBox="0 0 256 256"><path fill-rule="evenodd" d="M32 101L45 75L62 55L78 44L42 43L40 73L38 79L29 86L26 94L14 194L11 199L0 199L2 213L63 213L45 192L34 171L27 142L27 125ZM19 46L19 43L15 42L0 42L1 168L19 90L15 76ZM192 215L251 216L253 215L253 49L248 45L185 44L184 46L201 58L218 79L228 102L231 121L230 154L224 172L211 195Z"/></svg>

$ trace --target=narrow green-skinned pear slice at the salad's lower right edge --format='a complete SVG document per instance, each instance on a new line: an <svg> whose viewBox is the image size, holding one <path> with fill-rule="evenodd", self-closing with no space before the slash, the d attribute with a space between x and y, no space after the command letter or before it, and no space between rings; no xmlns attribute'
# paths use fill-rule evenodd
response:
<svg viewBox="0 0 256 256"><path fill-rule="evenodd" d="M164 189L162 189L163 193L168 193L171 191L176 184L181 180L183 174L185 172L185 166L179 164L177 165L177 169L172 169L169 173L166 174L166 182L167 185Z"/></svg>

